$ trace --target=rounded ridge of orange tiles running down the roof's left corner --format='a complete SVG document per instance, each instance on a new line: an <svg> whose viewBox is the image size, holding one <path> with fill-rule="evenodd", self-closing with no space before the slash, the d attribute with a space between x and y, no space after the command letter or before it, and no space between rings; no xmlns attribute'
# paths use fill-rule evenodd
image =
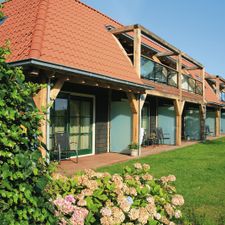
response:
<svg viewBox="0 0 225 225"><path fill-rule="evenodd" d="M41 56L41 48L45 32L45 19L48 10L48 4L49 0L40 0L32 43L30 47L30 58L39 58Z"/></svg>

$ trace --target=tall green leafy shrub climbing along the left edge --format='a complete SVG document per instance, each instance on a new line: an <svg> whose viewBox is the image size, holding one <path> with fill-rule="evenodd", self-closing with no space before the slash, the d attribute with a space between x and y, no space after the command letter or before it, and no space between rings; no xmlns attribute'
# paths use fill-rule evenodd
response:
<svg viewBox="0 0 225 225"><path fill-rule="evenodd" d="M50 168L39 151L42 116L32 102L41 87L5 63L0 48L0 223L55 224L44 191Z"/></svg>

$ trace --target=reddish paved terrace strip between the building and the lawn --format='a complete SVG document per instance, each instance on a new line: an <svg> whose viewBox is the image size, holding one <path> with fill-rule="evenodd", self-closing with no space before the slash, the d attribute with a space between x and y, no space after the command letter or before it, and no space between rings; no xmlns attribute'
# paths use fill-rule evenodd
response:
<svg viewBox="0 0 225 225"><path fill-rule="evenodd" d="M222 137L222 136L221 136ZM217 139L219 137L209 137L208 140ZM172 151L178 148L183 148L198 143L198 141L183 141L181 146L174 145L151 145L143 147L140 157L148 155L155 155L161 152ZM119 153L102 153L93 156L87 156L79 158L79 163L75 163L73 160L63 160L58 165L57 172L66 176L71 176L75 172L84 169L96 169L98 167L109 166L115 163L125 162L131 159L137 159L139 157L132 157L130 155L119 154Z"/></svg>

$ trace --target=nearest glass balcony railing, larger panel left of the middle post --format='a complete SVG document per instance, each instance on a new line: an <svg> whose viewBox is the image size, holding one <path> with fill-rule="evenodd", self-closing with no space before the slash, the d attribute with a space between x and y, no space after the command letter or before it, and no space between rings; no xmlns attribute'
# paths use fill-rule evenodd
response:
<svg viewBox="0 0 225 225"><path fill-rule="evenodd" d="M178 87L178 72L176 70L154 62L145 56L141 56L141 77L154 82Z"/></svg>

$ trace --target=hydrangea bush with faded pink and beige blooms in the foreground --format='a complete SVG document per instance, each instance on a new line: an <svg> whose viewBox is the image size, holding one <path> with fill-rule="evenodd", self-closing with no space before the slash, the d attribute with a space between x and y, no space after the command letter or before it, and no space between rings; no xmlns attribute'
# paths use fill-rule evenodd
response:
<svg viewBox="0 0 225 225"><path fill-rule="evenodd" d="M48 187L61 224L189 224L183 221L184 199L173 175L154 178L148 164L126 167L122 175L85 170L54 177Z"/></svg>

